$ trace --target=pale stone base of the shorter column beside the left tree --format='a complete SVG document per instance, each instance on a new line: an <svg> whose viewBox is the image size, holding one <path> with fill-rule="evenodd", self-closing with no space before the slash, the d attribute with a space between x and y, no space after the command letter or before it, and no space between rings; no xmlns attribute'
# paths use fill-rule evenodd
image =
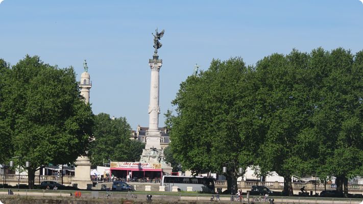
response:
<svg viewBox="0 0 363 204"><path fill-rule="evenodd" d="M88 157L78 157L75 162L75 177L72 179L72 185L77 184L79 189L90 189L92 181L90 178L91 163Z"/></svg>

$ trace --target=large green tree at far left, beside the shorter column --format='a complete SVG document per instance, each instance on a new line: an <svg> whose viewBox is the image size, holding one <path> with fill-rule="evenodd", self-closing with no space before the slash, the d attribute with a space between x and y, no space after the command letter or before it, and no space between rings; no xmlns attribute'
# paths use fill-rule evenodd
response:
<svg viewBox="0 0 363 204"><path fill-rule="evenodd" d="M9 129L11 155L21 156L20 166L31 162L28 173L32 188L39 167L73 162L85 154L93 114L79 94L71 67L59 69L37 56L26 56L4 77L0 124Z"/></svg>

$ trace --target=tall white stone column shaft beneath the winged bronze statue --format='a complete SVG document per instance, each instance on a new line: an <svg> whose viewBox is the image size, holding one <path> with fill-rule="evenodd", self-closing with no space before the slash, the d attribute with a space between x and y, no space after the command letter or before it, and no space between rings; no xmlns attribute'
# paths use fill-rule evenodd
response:
<svg viewBox="0 0 363 204"><path fill-rule="evenodd" d="M150 80L150 104L149 104L149 130L146 133L146 146L145 149L156 148L161 149L159 131L159 71L162 65L162 60L159 60L157 55L149 60L151 68Z"/></svg>

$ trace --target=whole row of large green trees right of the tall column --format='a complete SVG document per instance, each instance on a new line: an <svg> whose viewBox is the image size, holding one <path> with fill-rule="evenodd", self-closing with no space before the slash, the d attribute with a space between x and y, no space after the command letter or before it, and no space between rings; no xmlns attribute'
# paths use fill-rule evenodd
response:
<svg viewBox="0 0 363 204"><path fill-rule="evenodd" d="M232 163L227 179L237 166L276 171L286 195L293 174L333 175L342 192L363 175L362 62L362 52L342 48L294 49L255 66L213 60L181 83L166 114L175 159L195 173Z"/></svg>

